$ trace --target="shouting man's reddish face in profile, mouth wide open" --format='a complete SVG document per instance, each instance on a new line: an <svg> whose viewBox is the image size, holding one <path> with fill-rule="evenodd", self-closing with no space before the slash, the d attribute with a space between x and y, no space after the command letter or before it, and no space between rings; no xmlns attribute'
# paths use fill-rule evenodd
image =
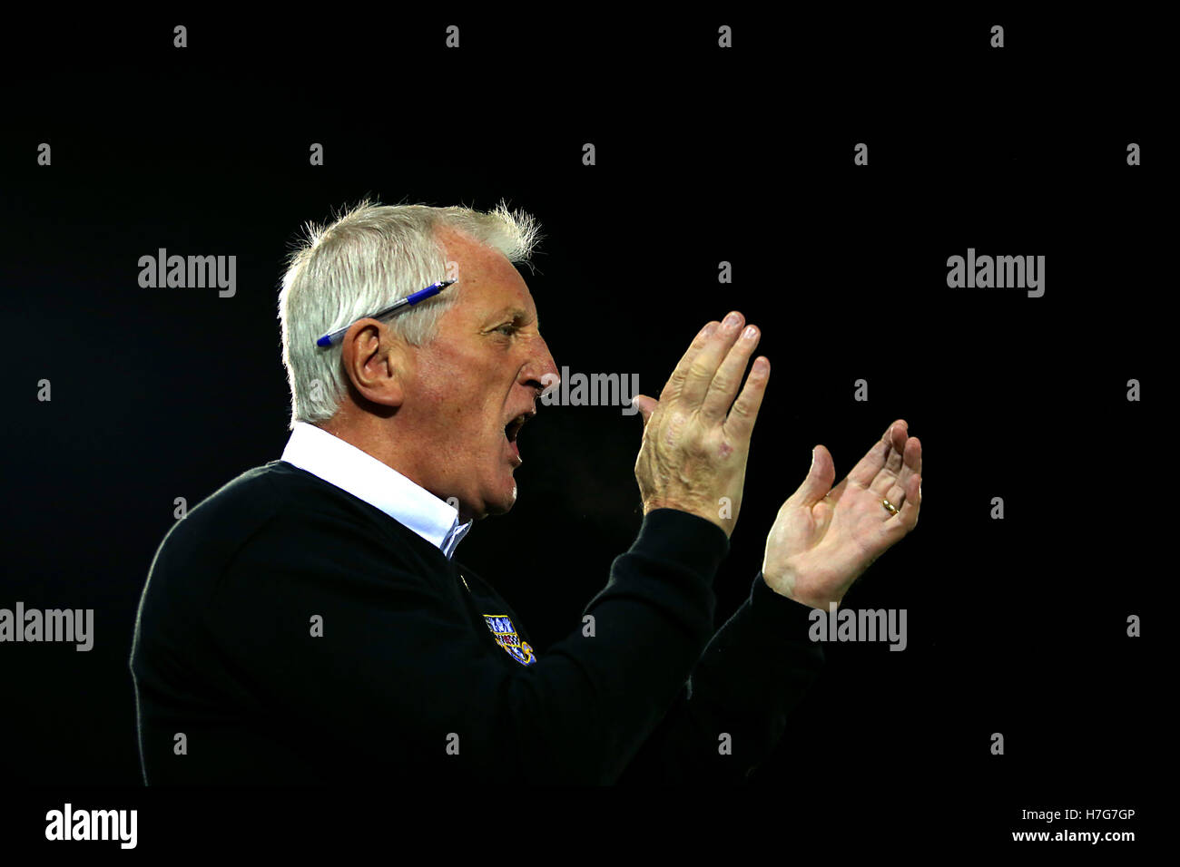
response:
<svg viewBox="0 0 1180 867"><path fill-rule="evenodd" d="M458 300L435 339L414 352L399 414L420 438L415 480L440 499L458 498L467 520L516 503L512 472L522 459L505 427L536 412L558 373L517 269L466 236L447 230L440 238L458 264L458 283L445 291L458 291Z"/></svg>

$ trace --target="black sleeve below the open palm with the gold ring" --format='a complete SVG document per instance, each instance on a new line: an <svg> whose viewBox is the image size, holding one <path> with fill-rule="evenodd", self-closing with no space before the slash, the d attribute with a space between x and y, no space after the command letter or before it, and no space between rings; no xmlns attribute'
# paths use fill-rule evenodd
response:
<svg viewBox="0 0 1180 867"><path fill-rule="evenodd" d="M812 610L759 572L620 783L745 783L824 666L807 635Z"/></svg>

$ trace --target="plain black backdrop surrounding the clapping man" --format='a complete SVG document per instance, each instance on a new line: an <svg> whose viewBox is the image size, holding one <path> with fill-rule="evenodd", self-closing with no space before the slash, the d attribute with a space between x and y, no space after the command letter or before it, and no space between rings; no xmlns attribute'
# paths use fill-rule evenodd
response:
<svg viewBox="0 0 1180 867"><path fill-rule="evenodd" d="M845 603L907 609L909 648L827 645L753 781L775 821L887 820L904 849L923 835L1018 847L1010 830L1043 827L1021 809L1145 814L1172 454L1158 422L1174 284L1160 123L1174 106L1158 22L341 14L47 15L5 34L0 606L92 607L96 635L87 653L0 646L0 770L28 816L6 836L37 839L44 810L71 799L138 806L140 848L162 822L196 821L145 825L176 793L90 788L142 783L139 593L176 497L191 508L282 452L283 260L303 223L363 196L503 197L533 214L546 237L523 274L571 372L636 372L657 395L709 318L736 308L761 327L772 377L717 625L749 593L812 446L839 481L893 419L920 438L919 525ZM185 50L171 47L178 22ZM997 22L1003 50L988 45ZM716 47L721 24L733 50ZM868 166L852 164L858 142ZM1130 142L1142 166L1126 165ZM236 296L139 288L139 256L160 247L236 255ZM1044 296L949 289L946 258L969 247L1044 255ZM867 402L853 400L861 377ZM1130 379L1141 402L1126 400ZM618 407L542 407L517 506L459 549L542 658L638 528L640 432ZM1126 636L1132 613L1142 638Z"/></svg>

